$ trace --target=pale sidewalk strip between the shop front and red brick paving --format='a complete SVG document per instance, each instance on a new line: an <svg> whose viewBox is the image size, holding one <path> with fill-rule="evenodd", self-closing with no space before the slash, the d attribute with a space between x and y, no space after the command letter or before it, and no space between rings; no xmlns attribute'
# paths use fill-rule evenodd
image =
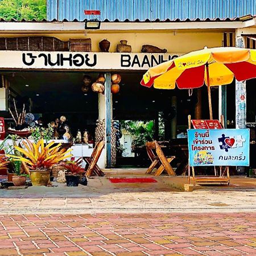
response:
<svg viewBox="0 0 256 256"><path fill-rule="evenodd" d="M156 180L157 183L113 184L106 177L95 177L89 179L89 185L86 187L66 187L65 184L57 183L57 187L1 189L0 213L256 211L256 188L253 185L256 179L245 178L242 179L243 185L234 185L232 178L231 187L203 187L193 192L179 192L176 188L170 187L166 177L159 177Z"/></svg>

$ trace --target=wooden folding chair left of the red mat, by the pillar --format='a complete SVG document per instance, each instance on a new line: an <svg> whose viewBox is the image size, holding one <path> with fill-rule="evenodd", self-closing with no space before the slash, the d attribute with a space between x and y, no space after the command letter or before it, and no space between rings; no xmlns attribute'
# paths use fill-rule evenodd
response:
<svg viewBox="0 0 256 256"><path fill-rule="evenodd" d="M100 167L98 167L97 162L101 156L101 152L104 148L105 141L100 141L96 143L92 155L89 157L84 157L86 164L88 167L86 168L85 175L86 177L92 176L92 174L96 174L97 176L104 176L104 172L101 171Z"/></svg>

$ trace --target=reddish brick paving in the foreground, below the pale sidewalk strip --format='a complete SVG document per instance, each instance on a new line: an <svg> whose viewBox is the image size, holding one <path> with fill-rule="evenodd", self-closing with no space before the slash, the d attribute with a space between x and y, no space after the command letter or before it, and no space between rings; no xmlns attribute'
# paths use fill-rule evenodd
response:
<svg viewBox="0 0 256 256"><path fill-rule="evenodd" d="M256 213L0 216L0 255L256 255Z"/></svg>

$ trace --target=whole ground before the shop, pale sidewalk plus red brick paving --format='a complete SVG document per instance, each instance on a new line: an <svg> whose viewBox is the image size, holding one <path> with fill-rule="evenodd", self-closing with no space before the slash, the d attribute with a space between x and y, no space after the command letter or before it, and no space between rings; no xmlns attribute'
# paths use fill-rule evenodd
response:
<svg viewBox="0 0 256 256"><path fill-rule="evenodd" d="M1 189L0 255L256 255L255 198L251 185L179 192L161 180Z"/></svg>

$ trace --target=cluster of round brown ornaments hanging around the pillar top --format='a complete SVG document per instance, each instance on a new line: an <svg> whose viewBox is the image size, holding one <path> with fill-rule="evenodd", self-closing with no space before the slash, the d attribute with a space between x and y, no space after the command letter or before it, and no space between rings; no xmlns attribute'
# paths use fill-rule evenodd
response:
<svg viewBox="0 0 256 256"><path fill-rule="evenodd" d="M104 94L104 91L105 91L105 76L104 76L104 74L98 75L98 78L96 79L95 82L93 82L93 84L92 84L92 78L90 76L84 75L82 80L84 83L81 88L82 92L84 92L84 93L89 92L90 86L92 85L91 88L92 88L93 92ZM119 89L120 89L119 83L121 82L121 75L113 74L111 76L111 80L112 80L111 92L113 94L118 93Z"/></svg>

